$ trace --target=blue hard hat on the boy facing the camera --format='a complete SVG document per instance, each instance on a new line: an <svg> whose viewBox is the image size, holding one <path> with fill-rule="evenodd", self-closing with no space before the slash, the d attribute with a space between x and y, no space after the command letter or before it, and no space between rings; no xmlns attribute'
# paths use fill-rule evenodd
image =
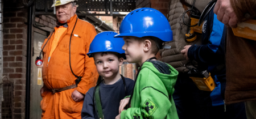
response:
<svg viewBox="0 0 256 119"><path fill-rule="evenodd" d="M124 54L125 50L122 50L122 46L125 44L125 41L123 41L121 37L114 37L115 35L117 35L117 33L112 31L98 33L90 43L87 55L92 57L92 53L97 52L117 52ZM123 56L125 55L122 55L122 57Z"/></svg>

